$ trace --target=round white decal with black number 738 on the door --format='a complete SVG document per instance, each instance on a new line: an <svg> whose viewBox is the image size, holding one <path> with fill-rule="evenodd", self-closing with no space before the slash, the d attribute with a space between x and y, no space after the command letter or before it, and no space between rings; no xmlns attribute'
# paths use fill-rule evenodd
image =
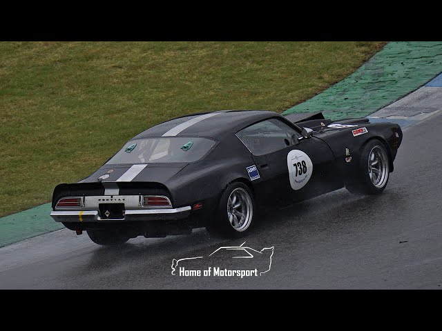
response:
<svg viewBox="0 0 442 331"><path fill-rule="evenodd" d="M291 150L287 154L287 168L289 168L291 188L300 190L310 180L311 173L313 172L313 163L302 150Z"/></svg>

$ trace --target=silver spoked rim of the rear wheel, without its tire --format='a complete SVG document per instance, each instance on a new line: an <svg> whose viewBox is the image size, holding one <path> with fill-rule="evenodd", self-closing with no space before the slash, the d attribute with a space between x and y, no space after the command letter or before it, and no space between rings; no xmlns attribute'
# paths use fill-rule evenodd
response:
<svg viewBox="0 0 442 331"><path fill-rule="evenodd" d="M243 188L236 188L229 195L227 217L236 231L242 232L249 228L253 217L253 205L249 193Z"/></svg>

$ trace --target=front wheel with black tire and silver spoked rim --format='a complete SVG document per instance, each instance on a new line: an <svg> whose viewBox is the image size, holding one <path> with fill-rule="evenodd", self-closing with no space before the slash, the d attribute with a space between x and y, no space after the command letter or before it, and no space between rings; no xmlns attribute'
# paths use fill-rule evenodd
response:
<svg viewBox="0 0 442 331"><path fill-rule="evenodd" d="M378 139L368 141L358 166L358 178L346 185L347 190L354 194L381 194L390 178L390 154L385 145Z"/></svg>

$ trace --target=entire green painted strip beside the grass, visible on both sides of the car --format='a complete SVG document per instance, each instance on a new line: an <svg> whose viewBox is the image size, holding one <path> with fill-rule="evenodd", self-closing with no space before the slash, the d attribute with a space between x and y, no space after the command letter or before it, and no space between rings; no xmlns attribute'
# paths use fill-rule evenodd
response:
<svg viewBox="0 0 442 331"><path fill-rule="evenodd" d="M442 72L442 42L391 42L349 77L284 112L324 112L328 118L365 117ZM0 247L63 225L50 203L0 218Z"/></svg>

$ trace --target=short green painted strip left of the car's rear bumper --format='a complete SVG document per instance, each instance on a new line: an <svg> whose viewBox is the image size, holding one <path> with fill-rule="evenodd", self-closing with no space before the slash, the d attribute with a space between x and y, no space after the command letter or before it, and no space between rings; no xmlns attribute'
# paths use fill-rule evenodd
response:
<svg viewBox="0 0 442 331"><path fill-rule="evenodd" d="M0 247L46 232L59 230L63 224L49 216L50 203L0 218Z"/></svg>

